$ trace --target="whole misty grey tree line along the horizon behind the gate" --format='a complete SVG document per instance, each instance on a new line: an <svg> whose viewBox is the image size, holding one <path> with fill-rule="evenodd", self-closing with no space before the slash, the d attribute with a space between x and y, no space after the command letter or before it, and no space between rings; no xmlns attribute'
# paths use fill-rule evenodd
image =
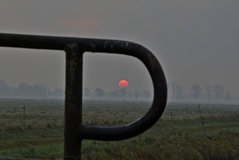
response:
<svg viewBox="0 0 239 160"><path fill-rule="evenodd" d="M150 91L131 91L125 88L114 89L106 92L102 88L90 90L88 87L83 88L83 98L86 99L152 99ZM191 89L185 92L181 84L168 84L168 99L170 101L187 101L195 102L229 102L232 98L229 91L226 91L221 84L205 85L192 84ZM17 86L9 86L5 81L0 80L0 98L64 98L64 90L60 88L51 89L43 83L27 84L20 83Z"/></svg>

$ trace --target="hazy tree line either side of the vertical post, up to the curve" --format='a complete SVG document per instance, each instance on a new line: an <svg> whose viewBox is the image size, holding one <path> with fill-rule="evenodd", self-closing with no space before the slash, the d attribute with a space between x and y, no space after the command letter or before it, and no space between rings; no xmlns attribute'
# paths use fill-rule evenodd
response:
<svg viewBox="0 0 239 160"><path fill-rule="evenodd" d="M0 80L0 98L64 98L64 90L60 88L51 89L47 85L27 84L25 82L17 86L9 86L5 81ZM150 99L151 93L145 91L129 91L125 88L115 89L106 92L102 88L90 90L88 87L83 88L83 98L93 99Z"/></svg>

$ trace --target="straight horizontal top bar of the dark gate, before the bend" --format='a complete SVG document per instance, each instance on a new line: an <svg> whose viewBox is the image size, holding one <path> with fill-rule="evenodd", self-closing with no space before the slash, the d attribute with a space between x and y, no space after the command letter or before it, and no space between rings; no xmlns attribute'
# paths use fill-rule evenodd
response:
<svg viewBox="0 0 239 160"><path fill-rule="evenodd" d="M73 43L84 51L104 53L125 53L131 48L140 47L139 44L121 40L0 33L0 46L2 47L65 50L67 44Z"/></svg>

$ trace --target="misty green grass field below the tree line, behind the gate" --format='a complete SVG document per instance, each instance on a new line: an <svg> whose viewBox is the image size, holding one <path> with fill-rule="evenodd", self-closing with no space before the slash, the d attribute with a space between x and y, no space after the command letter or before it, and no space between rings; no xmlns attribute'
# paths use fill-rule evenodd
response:
<svg viewBox="0 0 239 160"><path fill-rule="evenodd" d="M84 101L83 123L114 126L136 120L146 101ZM0 157L61 159L63 100L0 100ZM86 160L236 159L239 106L169 103L143 134L123 141L84 140Z"/></svg>

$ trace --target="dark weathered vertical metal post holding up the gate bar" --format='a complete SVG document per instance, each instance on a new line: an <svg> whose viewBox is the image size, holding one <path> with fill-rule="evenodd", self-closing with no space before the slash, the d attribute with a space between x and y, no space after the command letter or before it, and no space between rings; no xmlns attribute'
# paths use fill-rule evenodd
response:
<svg viewBox="0 0 239 160"><path fill-rule="evenodd" d="M82 123L82 58L83 52L76 43L66 45L65 93L65 157L64 160L81 159L82 138L77 130Z"/></svg>

